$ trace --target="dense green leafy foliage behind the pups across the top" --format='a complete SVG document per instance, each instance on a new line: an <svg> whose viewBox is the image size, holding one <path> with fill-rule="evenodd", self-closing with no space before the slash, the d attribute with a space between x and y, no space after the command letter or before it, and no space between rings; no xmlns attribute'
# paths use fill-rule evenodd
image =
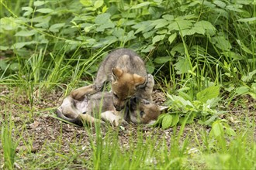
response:
<svg viewBox="0 0 256 170"><path fill-rule="evenodd" d="M2 73L9 63L9 71L24 66L19 58L29 59L42 49L43 62L64 53L72 65L100 48L127 47L145 58L150 73L168 80L170 72L216 80L218 71L225 75L221 81L237 82L255 70L254 3L2 1L2 56L12 57L2 61ZM95 73L95 67L86 71ZM206 71L197 75L196 70Z"/></svg>

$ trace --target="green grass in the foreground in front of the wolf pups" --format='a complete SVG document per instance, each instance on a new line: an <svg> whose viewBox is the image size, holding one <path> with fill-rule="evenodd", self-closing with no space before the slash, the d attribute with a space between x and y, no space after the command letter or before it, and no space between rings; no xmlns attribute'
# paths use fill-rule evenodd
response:
<svg viewBox="0 0 256 170"><path fill-rule="evenodd" d="M6 114L6 113L5 113ZM12 116L12 115L7 115ZM8 120L8 119L6 119ZM2 124L2 151L5 168L92 168L92 169L254 169L256 143L254 141L254 122L244 122L235 136L224 132L220 135L206 132L197 124L173 128L173 132L151 131L146 135L142 127L137 127L136 134L126 134L127 143L120 142L122 130L115 128L80 129L88 135L83 141L82 134L71 134L73 138L65 143L61 127L54 140L46 138L39 151L33 151L33 134L29 130L13 125L12 119ZM47 124L45 124L47 126ZM61 125L62 126L62 125ZM184 131L190 128L190 133ZM194 128L193 128L194 127ZM50 128L50 127L49 127ZM128 128L129 130L129 128ZM152 129L151 129L152 130ZM16 140L18 139L18 141ZM14 142L16 141L16 142ZM16 145L22 141L24 148L15 152ZM68 150L63 150L64 145ZM3 161L3 160L2 160Z"/></svg>

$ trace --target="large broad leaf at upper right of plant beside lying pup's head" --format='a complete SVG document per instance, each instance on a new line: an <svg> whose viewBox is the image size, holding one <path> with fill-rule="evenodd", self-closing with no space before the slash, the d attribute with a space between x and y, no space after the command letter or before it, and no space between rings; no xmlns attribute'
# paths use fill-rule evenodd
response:
<svg viewBox="0 0 256 170"><path fill-rule="evenodd" d="M220 87L207 87L206 89L200 91L196 94L197 100L201 101L202 103L206 104L207 100L213 99L218 97L220 94Z"/></svg>

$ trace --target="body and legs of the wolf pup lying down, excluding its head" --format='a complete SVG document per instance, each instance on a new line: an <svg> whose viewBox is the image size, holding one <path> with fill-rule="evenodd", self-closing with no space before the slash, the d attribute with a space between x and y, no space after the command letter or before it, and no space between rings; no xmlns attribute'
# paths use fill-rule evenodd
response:
<svg viewBox="0 0 256 170"><path fill-rule="evenodd" d="M112 93L102 92L90 95L94 90L92 85L83 90L87 90L87 93L83 91L85 95L81 100L76 100L71 95L64 98L63 103L56 110L57 117L79 126L96 122L104 124L104 121L109 121L113 126L122 123L123 118L114 113L115 108L111 102Z"/></svg>

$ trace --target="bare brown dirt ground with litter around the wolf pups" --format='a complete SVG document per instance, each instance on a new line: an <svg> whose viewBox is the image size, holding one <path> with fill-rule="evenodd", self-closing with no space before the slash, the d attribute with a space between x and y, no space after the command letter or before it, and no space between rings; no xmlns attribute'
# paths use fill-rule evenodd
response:
<svg viewBox="0 0 256 170"><path fill-rule="evenodd" d="M43 97L39 97L40 100L36 98L33 99L33 103L29 100L22 90L12 89L2 87L0 88L0 127L2 122L5 121L6 115L11 114L12 121L14 121L15 128L19 130L19 134L15 134L15 138L22 136L22 140L19 142L17 151L27 150L29 152L39 152L45 145L50 145L52 142L57 140L62 143L62 150L68 152L70 150L70 143L77 142L78 145L90 146L89 135L95 135L94 128L81 128L76 127L72 124L64 123L57 118L53 117L54 108L61 104L63 100L63 93L61 91L54 91ZM34 93L36 95L36 93ZM164 93L161 90L154 90L154 101L157 104L163 104L166 100ZM223 117L230 122L230 125L234 127L236 131L239 131L240 126L243 126L240 121L244 120L246 117L249 118L251 122L255 122L255 101L251 97L245 97L247 100L247 106L240 106L236 108L229 108L230 114L225 114ZM33 107L30 107L32 104ZM232 106L232 104L231 104ZM234 106L234 104L233 104ZM33 108L33 113L29 108ZM245 117L245 115L247 115ZM109 127L112 128L112 127ZM177 129L180 127L178 126ZM91 131L92 133L88 133ZM118 128L113 128L114 131L119 130ZM138 129L143 133L144 138L165 138L170 145L171 134L173 134L172 128L163 130L161 128L150 128L145 125L135 125L130 124L124 130L119 130L119 142L123 146L129 145L130 135L136 136ZM183 138L191 137L191 141L194 141L193 136L198 135L200 140L200 134L196 133L196 129L204 129L209 133L210 128L206 126L201 126L197 124L196 126L188 124L185 126L185 131L183 132ZM107 129L102 128L102 138L106 135ZM16 132L15 132L16 133ZM27 147L26 141L33 139L32 148ZM60 140L61 139L61 140ZM256 132L254 132L254 140L256 139ZM25 141L25 142L24 142ZM82 141L82 142L81 142ZM193 145L196 145L192 142ZM1 145L1 144L0 144ZM2 152L2 151L1 151ZM1 154L2 155L2 154Z"/></svg>

